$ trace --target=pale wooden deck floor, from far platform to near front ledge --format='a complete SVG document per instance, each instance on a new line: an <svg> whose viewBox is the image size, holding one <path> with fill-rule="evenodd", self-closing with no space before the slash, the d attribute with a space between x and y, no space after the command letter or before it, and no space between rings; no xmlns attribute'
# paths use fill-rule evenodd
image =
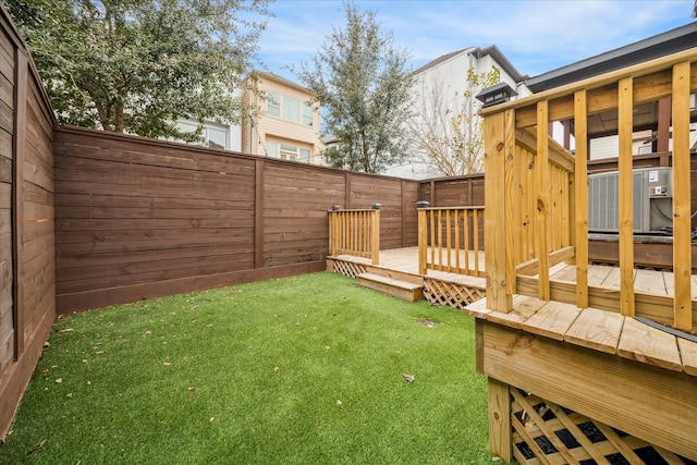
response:
<svg viewBox="0 0 697 465"><path fill-rule="evenodd" d="M435 270L419 274L417 247L380 250L378 265L370 265L367 258L346 255L334 258L466 287L486 289L485 278ZM480 269L484 270L484 252L480 252L477 258L481 264ZM475 259L474 253L470 253L469 259L472 261ZM550 269L549 274L552 282L573 283L576 280L576 267L559 264ZM673 273L670 271L637 269L634 272L634 285L639 292L669 296L674 292L673 282ZM620 268L604 265L590 266L588 284L609 291L619 290ZM693 295L697 295L697 276L693 276ZM463 309L477 318L511 328L697 376L696 342L651 328L634 318L597 308L582 311L572 304L545 302L524 295L514 297L513 307L513 311L509 314L492 311L486 307L486 299L482 298Z"/></svg>

